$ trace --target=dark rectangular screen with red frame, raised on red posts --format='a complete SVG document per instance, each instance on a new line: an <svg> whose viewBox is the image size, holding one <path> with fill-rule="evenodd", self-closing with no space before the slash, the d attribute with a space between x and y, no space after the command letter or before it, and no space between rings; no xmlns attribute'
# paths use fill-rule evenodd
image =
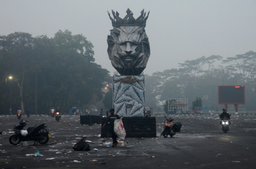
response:
<svg viewBox="0 0 256 169"><path fill-rule="evenodd" d="M218 104L245 104L245 86L218 86Z"/></svg>

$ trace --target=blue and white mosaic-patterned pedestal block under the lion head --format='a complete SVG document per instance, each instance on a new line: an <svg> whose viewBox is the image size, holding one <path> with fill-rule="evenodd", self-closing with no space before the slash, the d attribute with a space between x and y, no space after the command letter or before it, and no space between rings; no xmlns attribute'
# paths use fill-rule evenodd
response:
<svg viewBox="0 0 256 169"><path fill-rule="evenodd" d="M144 116L144 75L113 76L113 107L122 117Z"/></svg>

